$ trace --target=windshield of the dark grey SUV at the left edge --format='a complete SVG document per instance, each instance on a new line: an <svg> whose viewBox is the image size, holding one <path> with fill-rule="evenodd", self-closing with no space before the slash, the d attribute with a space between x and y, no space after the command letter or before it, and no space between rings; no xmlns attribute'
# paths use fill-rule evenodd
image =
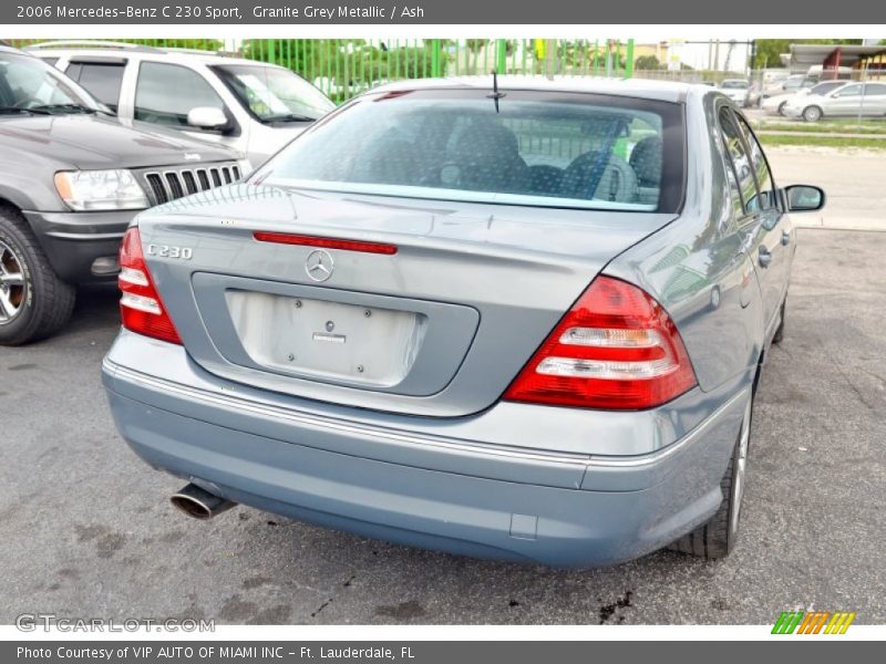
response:
<svg viewBox="0 0 886 664"><path fill-rule="evenodd" d="M18 53L0 52L0 113L94 113L107 110L52 66Z"/></svg>

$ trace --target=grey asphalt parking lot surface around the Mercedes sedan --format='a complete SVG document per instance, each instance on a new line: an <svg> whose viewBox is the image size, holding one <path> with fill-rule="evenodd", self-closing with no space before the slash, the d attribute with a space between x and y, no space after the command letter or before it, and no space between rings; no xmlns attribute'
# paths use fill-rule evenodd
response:
<svg viewBox="0 0 886 664"><path fill-rule="evenodd" d="M238 507L176 512L183 484L117 437L100 362L116 292L61 335L0 349L0 623L773 623L786 608L886 621L886 234L801 230L783 345L763 374L741 542L562 571L413 550Z"/></svg>

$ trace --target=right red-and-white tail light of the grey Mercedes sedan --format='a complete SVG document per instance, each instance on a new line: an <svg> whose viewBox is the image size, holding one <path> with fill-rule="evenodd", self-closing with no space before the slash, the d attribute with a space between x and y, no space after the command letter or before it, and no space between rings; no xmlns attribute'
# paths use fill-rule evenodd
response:
<svg viewBox="0 0 886 664"><path fill-rule="evenodd" d="M504 395L606 409L651 408L696 385L673 321L646 292L598 277Z"/></svg>

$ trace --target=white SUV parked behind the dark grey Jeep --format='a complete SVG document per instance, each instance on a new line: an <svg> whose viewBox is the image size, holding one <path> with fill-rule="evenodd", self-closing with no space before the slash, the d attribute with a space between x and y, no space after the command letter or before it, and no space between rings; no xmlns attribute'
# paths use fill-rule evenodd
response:
<svg viewBox="0 0 886 664"><path fill-rule="evenodd" d="M334 104L295 72L208 51L116 42L44 42L54 64L124 121L181 129L246 153L256 167Z"/></svg>

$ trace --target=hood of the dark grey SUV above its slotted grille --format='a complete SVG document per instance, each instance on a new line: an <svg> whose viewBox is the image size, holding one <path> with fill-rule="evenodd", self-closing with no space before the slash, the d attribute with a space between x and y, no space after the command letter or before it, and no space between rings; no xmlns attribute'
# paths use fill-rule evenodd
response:
<svg viewBox="0 0 886 664"><path fill-rule="evenodd" d="M239 156L186 136L126 127L104 115L3 116L0 145L82 169L197 165Z"/></svg>

